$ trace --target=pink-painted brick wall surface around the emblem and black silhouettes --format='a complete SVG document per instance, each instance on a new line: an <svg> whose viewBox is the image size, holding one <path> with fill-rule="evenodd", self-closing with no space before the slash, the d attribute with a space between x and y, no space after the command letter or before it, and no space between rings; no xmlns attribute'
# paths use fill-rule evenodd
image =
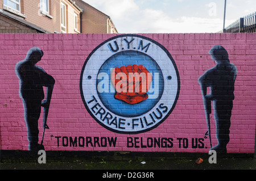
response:
<svg viewBox="0 0 256 181"><path fill-rule="evenodd" d="M115 36L108 34L0 34L1 149L28 149L24 108L22 99L19 98L19 79L15 74L15 65L26 57L26 53L30 48L39 47L43 50L44 56L36 65L41 66L55 79L47 120L49 129L46 129L44 134L43 145L46 150L208 153L210 148L209 136L205 135L208 130L207 121L205 120L204 104L198 79L206 70L216 65L208 54L209 50L214 45L221 45L227 50L230 62L237 67L233 109L230 118L230 141L226 145L226 149L228 153L254 153L256 120L255 33L135 35L137 48L139 40L143 40L143 47L147 43L151 43L148 46L148 52L146 52L146 48L136 50L144 54L151 53L150 56L154 60L161 56L166 56L164 50L170 52L176 64L180 81L179 96L176 99L176 104L170 103L172 102L170 98L172 85L164 85L162 98L167 100L170 98L164 104L168 104L168 107L169 104L170 106L174 105L170 115L162 123L156 124L154 128L141 129L142 131L136 134L119 132L121 129L109 129L107 128L108 125L102 126L106 124L106 121L102 125L99 124L86 110L81 96L80 76L85 60L88 59L88 62L92 62L97 59L97 56L108 57L110 49L101 47L110 43L115 49L115 40L117 40L120 47L118 52L122 51L121 47L127 48L125 41L123 41L123 44L119 44L119 39L126 38L131 41L130 36ZM108 41L110 38L112 38L111 41ZM135 41L133 42L134 44L130 45L135 46ZM159 47L160 49L158 49ZM98 49L93 54L94 48ZM133 52L136 52L135 49ZM103 60L105 62L105 59ZM159 58L156 62L158 62L160 69L166 69L162 70L163 78L165 78L166 74L164 72L168 72L169 66L171 68L175 67L172 66L170 60L164 60L164 58ZM92 75L95 72L97 73L97 61L94 64L86 64L85 71L92 70ZM88 68L88 66L90 67ZM175 75L175 72L170 74ZM175 76L172 76L172 78L175 79ZM90 92L90 89L94 91L95 87L96 85L91 85L88 88L88 92ZM174 85L174 90L176 89L177 86ZM85 99L89 100L89 98ZM115 106L117 106L116 109L118 110L120 105L117 104ZM89 110L92 111L92 107L89 107ZM133 110L129 110L129 107L126 107L125 111ZM217 138L213 114L214 110L212 109L210 125L212 145L215 146L217 145ZM94 114L94 116L96 115ZM39 144L43 134L42 117L43 111L39 119ZM100 118L98 117L98 119ZM139 121L135 123L139 124ZM125 126L126 124L123 125L123 127ZM137 125L135 126L138 127ZM126 129L124 130L126 131ZM77 139L77 145L70 145L70 138L73 141ZM90 138L92 139L92 144L90 144ZM108 139L113 139L115 141L114 145L110 146ZM154 142L154 140L158 139L162 140L160 146L157 144L155 146L154 144L151 145L152 141ZM101 140L103 144L101 144ZM105 140L108 141L107 145L104 144ZM133 140L133 144L131 144L131 140ZM194 141L193 144L192 141Z"/></svg>

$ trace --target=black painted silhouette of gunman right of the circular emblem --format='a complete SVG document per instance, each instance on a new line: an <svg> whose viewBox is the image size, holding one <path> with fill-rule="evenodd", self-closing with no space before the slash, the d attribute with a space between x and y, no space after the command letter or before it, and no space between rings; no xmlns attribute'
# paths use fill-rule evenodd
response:
<svg viewBox="0 0 256 181"><path fill-rule="evenodd" d="M217 153L226 153L226 145L229 142L230 117L232 115L237 68L229 62L228 52L224 47L216 45L210 49L209 54L217 65L205 71L198 79L198 82L203 95L209 138L209 114L211 113L211 101L213 102L218 144L212 147L210 142L210 150L216 150ZM207 94L207 87L210 89L210 94Z"/></svg>

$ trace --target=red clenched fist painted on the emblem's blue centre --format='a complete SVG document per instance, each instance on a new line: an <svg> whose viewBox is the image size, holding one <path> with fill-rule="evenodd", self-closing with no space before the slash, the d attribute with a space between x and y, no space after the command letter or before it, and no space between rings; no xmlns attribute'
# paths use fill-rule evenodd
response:
<svg viewBox="0 0 256 181"><path fill-rule="evenodd" d="M151 73L143 65L127 65L115 68L111 73L117 93L116 99L136 104L148 98L147 91L152 82Z"/></svg>

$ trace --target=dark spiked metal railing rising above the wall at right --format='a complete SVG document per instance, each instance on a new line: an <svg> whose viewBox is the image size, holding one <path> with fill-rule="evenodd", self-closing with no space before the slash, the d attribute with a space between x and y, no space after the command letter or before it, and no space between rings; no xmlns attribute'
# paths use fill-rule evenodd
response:
<svg viewBox="0 0 256 181"><path fill-rule="evenodd" d="M223 31L221 31L223 32ZM256 32L256 12L236 20L225 28L226 33L255 33Z"/></svg>

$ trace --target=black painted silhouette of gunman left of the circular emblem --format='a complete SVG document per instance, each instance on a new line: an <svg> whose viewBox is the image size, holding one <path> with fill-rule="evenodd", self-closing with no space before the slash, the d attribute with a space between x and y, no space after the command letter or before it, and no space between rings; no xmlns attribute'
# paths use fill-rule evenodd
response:
<svg viewBox="0 0 256 181"><path fill-rule="evenodd" d="M31 151L44 149L43 145L38 144L38 120L41 107L48 111L55 84L55 79L51 75L48 75L43 68L35 65L42 57L43 51L38 47L33 47L28 50L26 58L19 61L15 66L15 72L19 78L19 96L24 107L28 150ZM45 100L43 100L43 86L47 87Z"/></svg>

